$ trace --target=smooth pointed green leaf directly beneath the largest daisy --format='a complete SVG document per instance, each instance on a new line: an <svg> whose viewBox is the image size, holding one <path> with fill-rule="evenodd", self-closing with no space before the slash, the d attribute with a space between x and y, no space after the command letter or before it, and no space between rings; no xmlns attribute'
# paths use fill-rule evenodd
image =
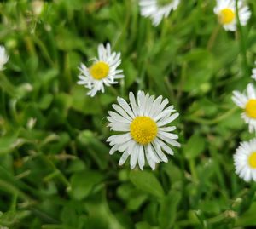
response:
<svg viewBox="0 0 256 229"><path fill-rule="evenodd" d="M147 171L131 171L130 180L138 189L148 192L156 198L162 198L165 195L160 182L152 173Z"/></svg>

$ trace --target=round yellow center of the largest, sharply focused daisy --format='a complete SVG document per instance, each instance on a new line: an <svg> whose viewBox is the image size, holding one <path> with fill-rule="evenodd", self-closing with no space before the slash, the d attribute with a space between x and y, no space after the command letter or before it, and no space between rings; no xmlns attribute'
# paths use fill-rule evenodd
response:
<svg viewBox="0 0 256 229"><path fill-rule="evenodd" d="M157 125L150 117L140 116L133 119L130 125L131 137L142 145L154 140L157 135Z"/></svg>

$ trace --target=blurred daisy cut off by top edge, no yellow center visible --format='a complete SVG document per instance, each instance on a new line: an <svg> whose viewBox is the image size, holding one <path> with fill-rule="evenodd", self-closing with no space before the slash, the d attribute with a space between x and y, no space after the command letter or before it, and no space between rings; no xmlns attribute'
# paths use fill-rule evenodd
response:
<svg viewBox="0 0 256 229"><path fill-rule="evenodd" d="M180 0L140 0L141 14L153 21L158 26L160 21L168 17L172 10L177 9Z"/></svg>

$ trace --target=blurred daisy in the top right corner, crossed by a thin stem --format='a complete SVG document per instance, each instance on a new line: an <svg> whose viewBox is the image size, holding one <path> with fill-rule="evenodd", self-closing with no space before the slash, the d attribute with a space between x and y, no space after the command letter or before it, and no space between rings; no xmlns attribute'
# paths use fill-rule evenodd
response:
<svg viewBox="0 0 256 229"><path fill-rule="evenodd" d="M226 31L236 31L236 0L217 0L213 11ZM242 0L238 0L238 14L241 26L247 25L251 12Z"/></svg>

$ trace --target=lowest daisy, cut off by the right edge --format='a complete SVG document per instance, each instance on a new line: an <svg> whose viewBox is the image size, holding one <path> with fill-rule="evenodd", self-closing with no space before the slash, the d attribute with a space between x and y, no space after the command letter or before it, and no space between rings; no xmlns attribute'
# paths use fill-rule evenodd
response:
<svg viewBox="0 0 256 229"><path fill-rule="evenodd" d="M256 181L256 139L241 142L234 161L239 177L245 181Z"/></svg>

